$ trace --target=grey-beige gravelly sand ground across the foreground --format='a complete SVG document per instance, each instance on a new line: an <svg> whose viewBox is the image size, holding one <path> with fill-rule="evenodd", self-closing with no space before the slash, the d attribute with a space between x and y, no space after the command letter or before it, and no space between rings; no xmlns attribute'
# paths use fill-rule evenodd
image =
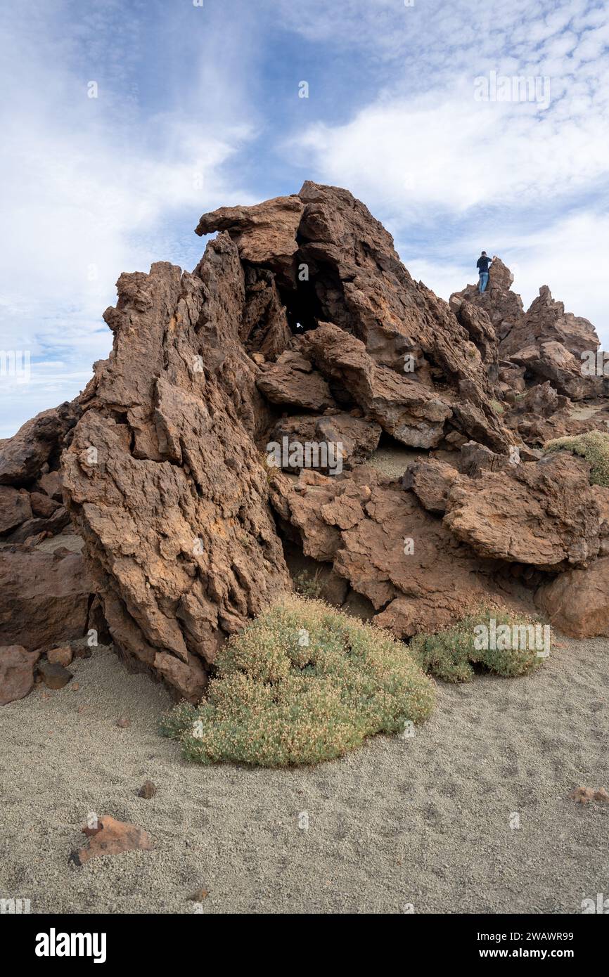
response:
<svg viewBox="0 0 609 977"><path fill-rule="evenodd" d="M563 640L535 676L440 685L413 739L289 771L186 763L156 734L166 693L100 648L77 690L0 709L0 896L32 913L579 913L609 893L609 805L567 798L609 788L609 643ZM90 811L153 851L68 864Z"/></svg>

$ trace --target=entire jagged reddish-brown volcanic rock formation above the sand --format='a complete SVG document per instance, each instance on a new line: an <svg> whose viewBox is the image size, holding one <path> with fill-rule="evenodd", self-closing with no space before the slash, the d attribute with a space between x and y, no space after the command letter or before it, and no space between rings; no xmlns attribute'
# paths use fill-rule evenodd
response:
<svg viewBox="0 0 609 977"><path fill-rule="evenodd" d="M541 451L607 430L591 324L546 286L525 312L500 260L444 302L338 188L204 214L215 232L192 273L121 275L109 359L0 445L13 698L39 656L108 629L197 701L298 553L400 637L536 592L565 630L609 633L609 489ZM574 592L598 595L593 622Z"/></svg>

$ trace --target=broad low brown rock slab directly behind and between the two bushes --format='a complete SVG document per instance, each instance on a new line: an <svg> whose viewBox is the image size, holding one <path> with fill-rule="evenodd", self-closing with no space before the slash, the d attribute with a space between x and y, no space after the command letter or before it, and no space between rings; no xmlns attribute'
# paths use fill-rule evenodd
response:
<svg viewBox="0 0 609 977"><path fill-rule="evenodd" d="M509 601L497 565L459 543L427 513L413 492L362 466L348 478L303 472L283 475L271 498L294 527L305 555L333 570L367 597L378 624L400 637L447 625L482 600Z"/></svg>

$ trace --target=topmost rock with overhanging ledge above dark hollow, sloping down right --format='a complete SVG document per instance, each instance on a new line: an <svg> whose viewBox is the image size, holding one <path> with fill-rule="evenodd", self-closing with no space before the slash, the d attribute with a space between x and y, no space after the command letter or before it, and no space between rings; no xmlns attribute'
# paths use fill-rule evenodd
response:
<svg viewBox="0 0 609 977"><path fill-rule="evenodd" d="M296 223L298 207L304 209ZM277 240L265 232L276 221ZM225 230L238 242L241 258L281 270L283 298L294 323L309 330L329 325L339 330L345 344L347 333L361 341L367 359L378 367L378 385L384 388L375 399L386 400L390 412L399 400L394 385L402 392L410 388L407 407L415 408L415 424L430 425L423 437L428 445L435 443L451 416L457 430L495 450L507 451L515 443L493 407L488 370L467 329L445 302L413 280L391 235L349 191L307 181L295 197L204 214L197 233L214 230ZM401 383L405 377L409 382ZM281 383L282 376L278 379ZM270 384L272 377L263 382ZM268 389L274 403L286 403L278 401L275 387ZM368 409L368 403L358 400L358 391L343 387L339 393L351 394L354 403ZM302 406L301 401L294 406ZM430 409L433 418L425 417ZM405 427L399 416L389 419L388 427L377 419L385 430Z"/></svg>

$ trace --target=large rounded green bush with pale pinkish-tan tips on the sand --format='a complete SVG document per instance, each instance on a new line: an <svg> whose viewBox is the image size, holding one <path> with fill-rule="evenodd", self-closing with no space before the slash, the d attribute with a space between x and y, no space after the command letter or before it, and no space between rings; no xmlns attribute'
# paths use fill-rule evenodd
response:
<svg viewBox="0 0 609 977"><path fill-rule="evenodd" d="M161 724L185 756L283 767L342 756L432 711L433 682L388 632L287 594L224 645L207 697Z"/></svg>

